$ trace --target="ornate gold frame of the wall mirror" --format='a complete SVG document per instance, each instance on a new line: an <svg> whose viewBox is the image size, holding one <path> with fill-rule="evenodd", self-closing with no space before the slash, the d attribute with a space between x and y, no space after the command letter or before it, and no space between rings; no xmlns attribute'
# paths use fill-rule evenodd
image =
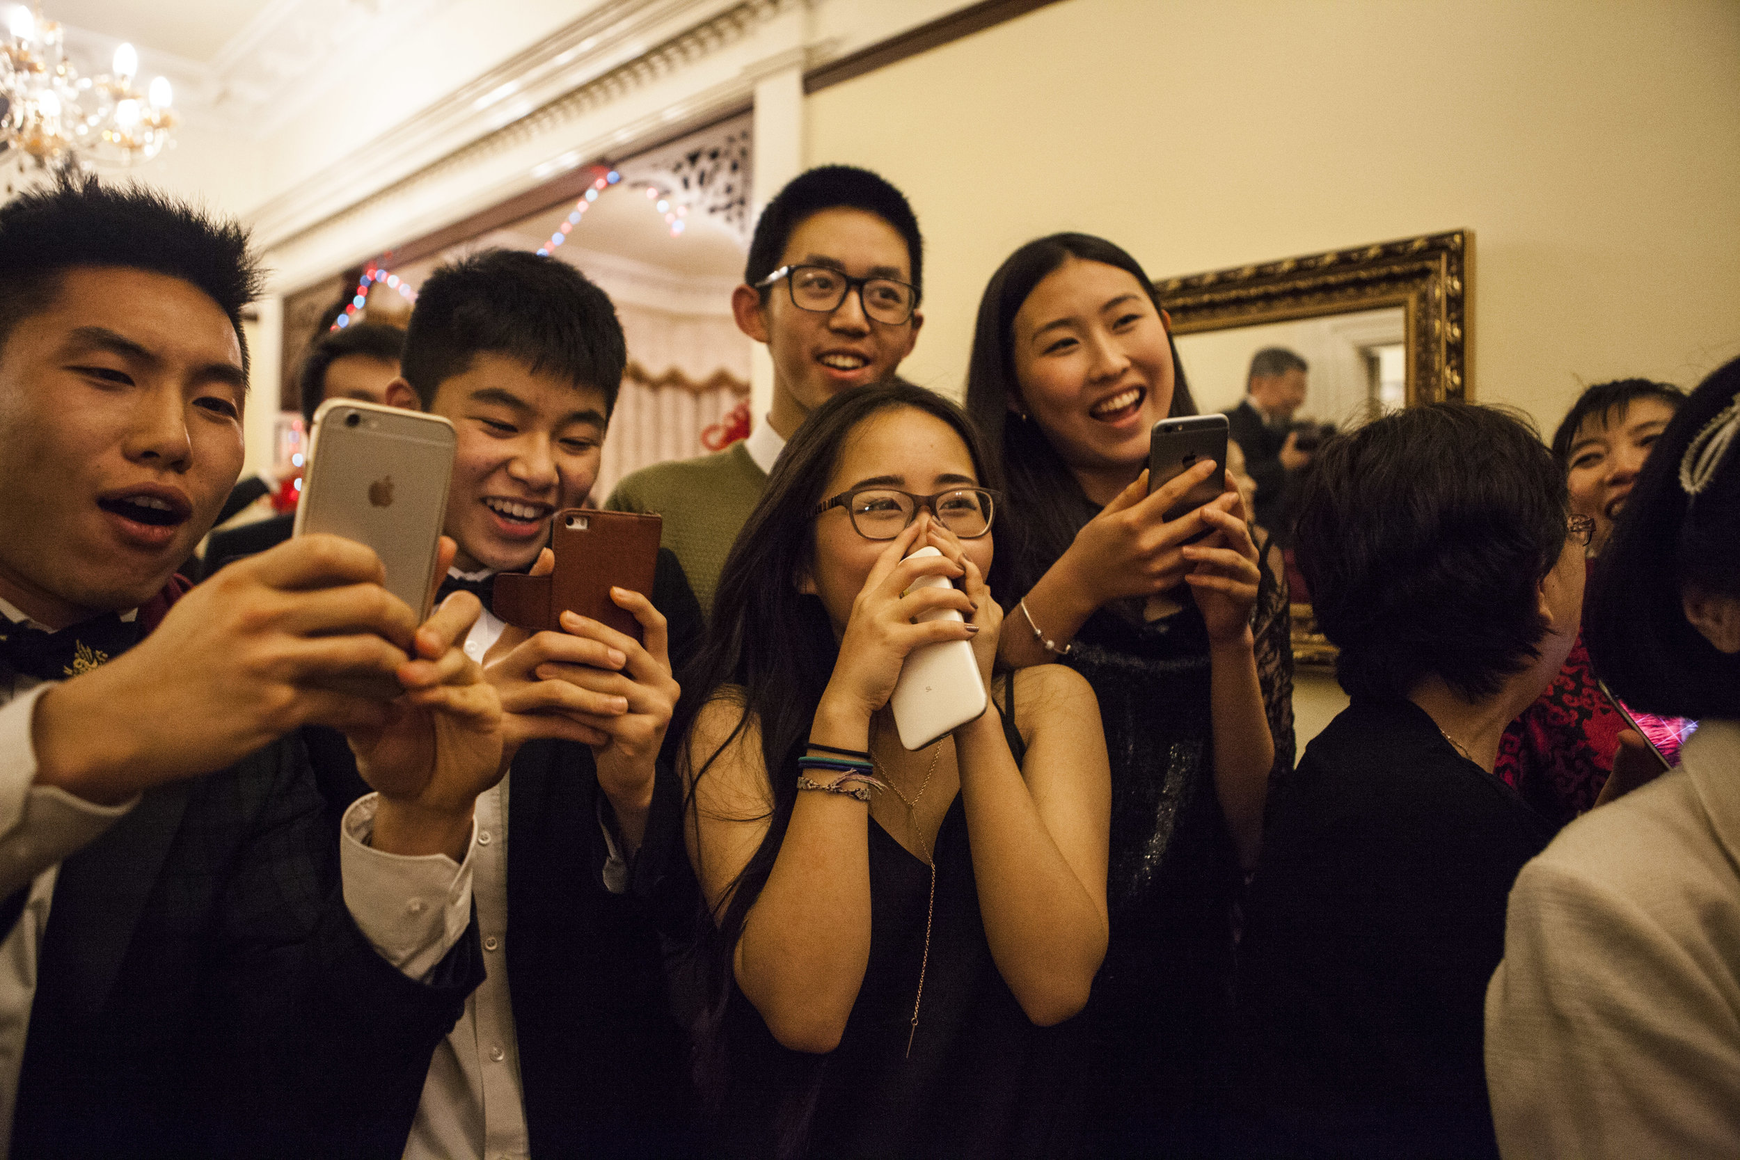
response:
<svg viewBox="0 0 1740 1160"><path fill-rule="evenodd" d="M1173 334L1268 322L1404 310L1406 405L1472 400L1469 318L1474 231L1449 230L1255 266L1209 270L1154 283ZM1293 661L1335 666L1336 647L1317 631L1310 603L1295 602Z"/></svg>

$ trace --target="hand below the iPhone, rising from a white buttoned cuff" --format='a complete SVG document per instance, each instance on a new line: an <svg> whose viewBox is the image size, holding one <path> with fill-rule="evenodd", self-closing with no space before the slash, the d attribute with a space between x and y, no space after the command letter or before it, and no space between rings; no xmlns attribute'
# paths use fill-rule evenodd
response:
<svg viewBox="0 0 1740 1160"><path fill-rule="evenodd" d="M442 536L444 572L454 550ZM463 647L482 610L472 593L447 597L395 671L405 692L379 722L345 729L357 770L381 795L371 838L379 850L461 861L477 795L501 781L501 699Z"/></svg>

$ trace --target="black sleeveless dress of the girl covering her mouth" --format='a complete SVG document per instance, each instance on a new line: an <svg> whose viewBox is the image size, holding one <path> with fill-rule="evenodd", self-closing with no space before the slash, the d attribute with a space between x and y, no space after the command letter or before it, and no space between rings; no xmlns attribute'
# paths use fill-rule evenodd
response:
<svg viewBox="0 0 1740 1160"><path fill-rule="evenodd" d="M1011 692L1002 729L1020 765L1027 746L1013 708ZM1070 1151L1075 1021L1034 1026L997 972L959 793L943 816L934 857L936 913L917 1031L912 1003L931 870L872 821L870 962L840 1045L826 1056L781 1047L733 990L719 1155L887 1160Z"/></svg>

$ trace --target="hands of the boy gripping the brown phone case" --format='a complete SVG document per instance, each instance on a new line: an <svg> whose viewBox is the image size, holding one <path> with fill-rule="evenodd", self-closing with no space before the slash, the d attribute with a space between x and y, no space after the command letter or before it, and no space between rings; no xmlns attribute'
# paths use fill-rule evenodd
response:
<svg viewBox="0 0 1740 1160"><path fill-rule="evenodd" d="M531 574L553 569L555 555L545 548ZM599 786L632 852L646 833L654 760L682 689L672 677L665 614L642 593L612 586L609 595L640 624L644 643L564 612L559 633L505 628L484 668L508 711L503 765L532 737L592 746Z"/></svg>

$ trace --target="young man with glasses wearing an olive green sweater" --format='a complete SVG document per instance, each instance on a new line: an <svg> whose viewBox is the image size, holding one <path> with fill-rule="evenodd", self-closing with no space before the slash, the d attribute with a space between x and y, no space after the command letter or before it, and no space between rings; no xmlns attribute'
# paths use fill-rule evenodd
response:
<svg viewBox="0 0 1740 1160"><path fill-rule="evenodd" d="M894 374L924 325L922 289L919 219L880 176L823 165L767 202L731 313L773 357L773 409L746 440L642 468L604 501L614 511L665 517L665 546L705 612L785 440L840 391Z"/></svg>

